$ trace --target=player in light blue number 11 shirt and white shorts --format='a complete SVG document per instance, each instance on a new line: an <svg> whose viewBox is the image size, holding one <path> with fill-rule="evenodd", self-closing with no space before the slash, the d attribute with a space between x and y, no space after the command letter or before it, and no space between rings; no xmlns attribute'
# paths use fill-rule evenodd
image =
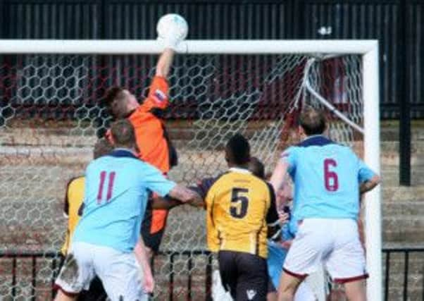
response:
<svg viewBox="0 0 424 301"><path fill-rule="evenodd" d="M75 300L95 275L112 301L147 300L154 282L139 236L147 190L182 202L199 201L195 192L137 159L130 121L113 123L111 137L116 149L92 161L85 172L82 217L56 279L60 289L56 300Z"/></svg>

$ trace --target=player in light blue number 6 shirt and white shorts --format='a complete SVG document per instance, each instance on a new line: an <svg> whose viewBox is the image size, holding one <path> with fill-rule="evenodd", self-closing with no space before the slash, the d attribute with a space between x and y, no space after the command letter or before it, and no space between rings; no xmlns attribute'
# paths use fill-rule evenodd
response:
<svg viewBox="0 0 424 301"><path fill-rule="evenodd" d="M365 257L356 221L360 192L373 189L379 177L349 148L323 135L322 112L306 108L299 132L306 139L289 147L273 172L278 190L288 172L294 182L294 220L299 234L287 254L278 300L292 300L299 283L324 263L345 284L349 300L365 300Z"/></svg>

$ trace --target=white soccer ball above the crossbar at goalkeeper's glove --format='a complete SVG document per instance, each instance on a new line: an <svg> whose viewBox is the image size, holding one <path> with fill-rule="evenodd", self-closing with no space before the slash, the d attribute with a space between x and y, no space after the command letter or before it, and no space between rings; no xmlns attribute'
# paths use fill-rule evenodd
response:
<svg viewBox="0 0 424 301"><path fill-rule="evenodd" d="M177 13L168 13L158 20L156 31L160 38L166 39L172 33L173 35L177 35L178 39L183 40L187 37L189 25L185 18L182 18Z"/></svg>

